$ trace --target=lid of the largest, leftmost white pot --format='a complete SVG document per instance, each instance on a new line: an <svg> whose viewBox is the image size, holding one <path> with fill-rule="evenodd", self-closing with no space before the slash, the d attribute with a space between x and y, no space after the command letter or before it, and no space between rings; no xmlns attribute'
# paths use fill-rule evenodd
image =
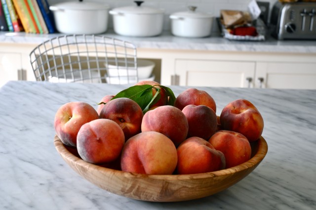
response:
<svg viewBox="0 0 316 210"><path fill-rule="evenodd" d="M88 2L88 1L65 1L51 5L52 8L62 10L102 10L109 9L110 6L103 3Z"/></svg>

